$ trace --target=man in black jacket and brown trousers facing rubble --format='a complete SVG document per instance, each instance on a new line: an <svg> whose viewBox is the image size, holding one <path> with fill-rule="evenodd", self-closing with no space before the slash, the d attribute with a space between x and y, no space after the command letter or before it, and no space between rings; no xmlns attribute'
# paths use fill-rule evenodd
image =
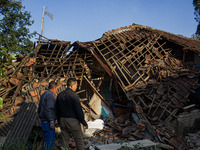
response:
<svg viewBox="0 0 200 150"><path fill-rule="evenodd" d="M69 78L67 80L67 89L58 94L56 110L62 134L62 146L69 148L70 134L72 134L77 150L84 150L80 123L86 128L88 128L88 125L84 119L79 96L75 93L76 89L77 80Z"/></svg>

